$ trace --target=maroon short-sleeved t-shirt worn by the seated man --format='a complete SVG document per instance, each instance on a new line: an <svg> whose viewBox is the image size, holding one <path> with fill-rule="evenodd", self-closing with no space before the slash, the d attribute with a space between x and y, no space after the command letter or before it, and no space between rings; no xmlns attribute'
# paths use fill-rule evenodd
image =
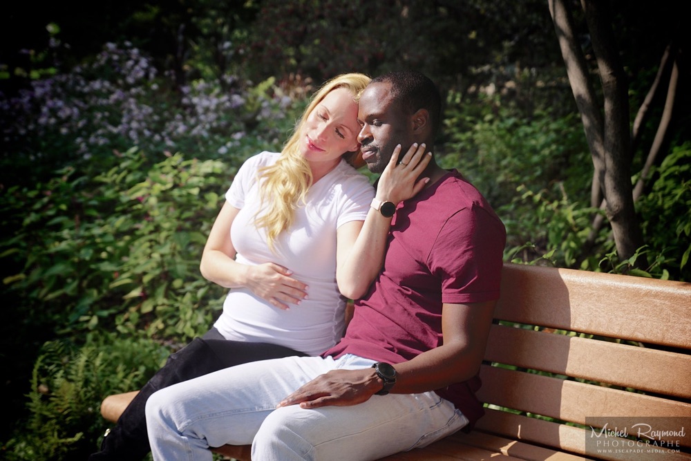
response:
<svg viewBox="0 0 691 461"><path fill-rule="evenodd" d="M397 364L442 344L442 304L499 297L506 231L480 192L451 171L399 204L383 270L339 344L324 356L354 354ZM474 391L480 379L436 392L471 424L483 414Z"/></svg>

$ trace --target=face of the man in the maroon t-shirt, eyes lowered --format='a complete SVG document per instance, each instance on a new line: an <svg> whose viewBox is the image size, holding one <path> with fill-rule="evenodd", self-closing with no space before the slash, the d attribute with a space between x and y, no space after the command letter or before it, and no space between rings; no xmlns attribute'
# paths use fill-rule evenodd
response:
<svg viewBox="0 0 691 461"><path fill-rule="evenodd" d="M357 140L362 144L362 158L372 173L384 171L397 144L401 144L403 153L413 144L410 117L392 97L390 86L388 82L370 84L358 105L357 121L361 130Z"/></svg>

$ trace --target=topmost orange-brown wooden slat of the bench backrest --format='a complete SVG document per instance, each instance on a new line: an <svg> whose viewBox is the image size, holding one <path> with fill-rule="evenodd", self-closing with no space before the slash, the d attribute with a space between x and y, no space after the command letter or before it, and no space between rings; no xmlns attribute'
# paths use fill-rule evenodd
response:
<svg viewBox="0 0 691 461"><path fill-rule="evenodd" d="M505 263L495 318L691 349L691 283Z"/></svg>

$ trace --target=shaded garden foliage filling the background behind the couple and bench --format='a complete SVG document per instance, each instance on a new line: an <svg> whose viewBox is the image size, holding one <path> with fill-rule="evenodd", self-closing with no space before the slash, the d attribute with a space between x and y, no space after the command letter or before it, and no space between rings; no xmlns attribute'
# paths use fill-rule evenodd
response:
<svg viewBox="0 0 691 461"><path fill-rule="evenodd" d="M674 1L610 4L633 119L683 15ZM585 28L579 37L594 69ZM13 2L0 44L8 459L83 458L105 427L100 399L141 386L208 328L223 290L198 260L234 171L280 149L305 95L336 73L435 79L446 102L435 154L498 210L507 261L632 265L608 227L585 250L600 212L589 205L593 166L545 0ZM680 63L666 155L636 206L649 261L639 274L689 281ZM660 101L650 114L634 180Z"/></svg>

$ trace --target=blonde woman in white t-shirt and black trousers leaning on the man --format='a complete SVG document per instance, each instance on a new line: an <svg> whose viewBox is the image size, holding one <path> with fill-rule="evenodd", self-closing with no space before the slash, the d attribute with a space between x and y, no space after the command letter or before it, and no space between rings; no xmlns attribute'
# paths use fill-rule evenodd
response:
<svg viewBox="0 0 691 461"><path fill-rule="evenodd" d="M366 293L384 256L383 245L368 245L374 191L344 160L359 152L357 96L368 82L352 73L324 84L283 151L240 168L200 264L205 278L231 289L223 314L171 355L90 460L149 452L144 408L159 388L248 361L317 355L340 339L345 297ZM415 177L386 180L408 190Z"/></svg>

